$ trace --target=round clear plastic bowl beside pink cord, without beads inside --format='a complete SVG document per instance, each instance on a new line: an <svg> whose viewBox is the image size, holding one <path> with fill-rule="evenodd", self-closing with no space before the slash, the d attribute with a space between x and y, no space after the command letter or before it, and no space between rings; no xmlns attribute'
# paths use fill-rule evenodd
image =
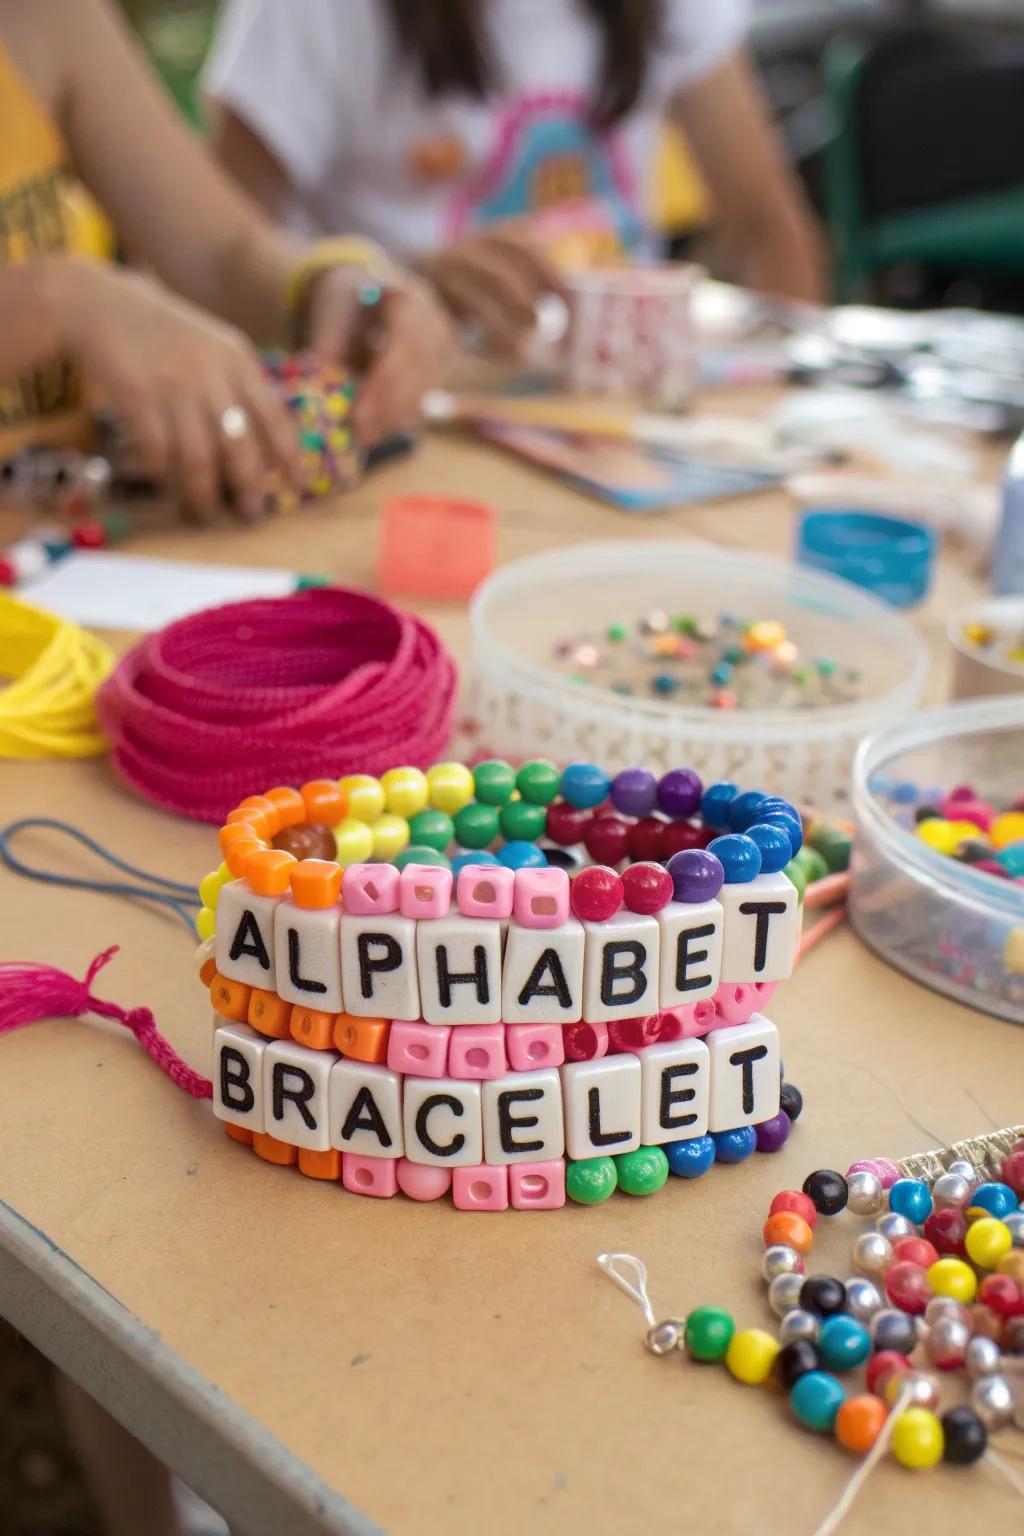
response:
<svg viewBox="0 0 1024 1536"><path fill-rule="evenodd" d="M857 659L866 694L820 710L714 710L580 687L548 665L567 634L652 608L778 619L817 654ZM614 610L614 611L613 611ZM471 604L473 717L488 754L600 762L609 773L685 762L703 777L763 785L821 811L849 808L854 753L906 719L927 673L924 645L886 604L785 561L672 539L586 544L516 561Z"/></svg>

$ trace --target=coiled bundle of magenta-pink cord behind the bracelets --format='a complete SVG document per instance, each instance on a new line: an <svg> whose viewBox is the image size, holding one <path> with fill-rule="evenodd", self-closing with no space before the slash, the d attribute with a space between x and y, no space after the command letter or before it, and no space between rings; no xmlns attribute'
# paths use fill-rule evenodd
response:
<svg viewBox="0 0 1024 1536"><path fill-rule="evenodd" d="M100 690L117 773L197 822L273 783L425 768L448 740L456 668L381 598L318 587L209 608L147 636Z"/></svg>

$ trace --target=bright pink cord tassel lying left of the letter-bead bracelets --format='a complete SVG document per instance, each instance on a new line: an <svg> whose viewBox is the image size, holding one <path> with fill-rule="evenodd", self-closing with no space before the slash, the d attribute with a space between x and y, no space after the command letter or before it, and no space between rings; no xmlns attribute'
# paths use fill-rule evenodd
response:
<svg viewBox="0 0 1024 1536"><path fill-rule="evenodd" d="M157 1020L147 1008L120 1008L107 1003L101 997L94 997L91 986L104 965L117 954L118 946L104 949L97 955L86 971L84 982L75 982L66 971L55 971L54 966L32 965L28 960L14 960L0 965L0 1035L23 1025L32 1025L37 1018L81 1018L83 1014L98 1014L100 1018L111 1018L130 1029L143 1051L152 1057L161 1072L166 1072L172 1083L183 1087L192 1098L212 1098L213 1084L207 1077L193 1072L181 1060L157 1029Z"/></svg>

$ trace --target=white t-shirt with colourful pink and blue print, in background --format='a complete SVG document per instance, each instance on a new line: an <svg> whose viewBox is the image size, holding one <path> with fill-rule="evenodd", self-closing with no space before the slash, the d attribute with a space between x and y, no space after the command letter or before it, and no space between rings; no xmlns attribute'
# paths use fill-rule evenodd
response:
<svg viewBox="0 0 1024 1536"><path fill-rule="evenodd" d="M643 95L603 134L586 121L599 35L576 0L481 6L500 81L487 101L425 95L387 0L227 0L206 88L286 167L296 233L367 235L408 257L496 220L599 200L634 246L665 103L735 51L748 5L668 0Z"/></svg>

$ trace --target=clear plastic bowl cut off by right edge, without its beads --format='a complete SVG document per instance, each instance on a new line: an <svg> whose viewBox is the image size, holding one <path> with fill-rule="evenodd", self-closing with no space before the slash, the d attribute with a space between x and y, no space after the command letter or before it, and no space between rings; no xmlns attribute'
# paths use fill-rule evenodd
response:
<svg viewBox="0 0 1024 1536"><path fill-rule="evenodd" d="M1009 803L1024 773L1024 697L981 699L866 740L854 765L855 932L889 965L949 997L1024 1025L1024 886L935 852L900 826L880 782L970 783Z"/></svg>

